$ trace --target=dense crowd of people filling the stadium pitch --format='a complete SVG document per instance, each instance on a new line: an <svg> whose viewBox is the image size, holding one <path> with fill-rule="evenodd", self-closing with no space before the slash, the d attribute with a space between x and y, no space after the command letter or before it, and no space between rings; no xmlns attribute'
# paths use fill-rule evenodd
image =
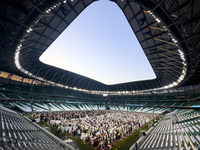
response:
<svg viewBox="0 0 200 150"><path fill-rule="evenodd" d="M127 137L134 130L155 119L157 114L114 110L35 113L42 121L90 142L93 146L104 147L120 138Z"/></svg>

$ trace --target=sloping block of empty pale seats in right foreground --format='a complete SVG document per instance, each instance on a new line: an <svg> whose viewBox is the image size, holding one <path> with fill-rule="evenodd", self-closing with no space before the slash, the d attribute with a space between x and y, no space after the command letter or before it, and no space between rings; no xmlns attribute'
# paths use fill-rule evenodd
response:
<svg viewBox="0 0 200 150"><path fill-rule="evenodd" d="M140 149L198 149L200 147L200 119L178 123L177 111L167 114L156 126Z"/></svg>

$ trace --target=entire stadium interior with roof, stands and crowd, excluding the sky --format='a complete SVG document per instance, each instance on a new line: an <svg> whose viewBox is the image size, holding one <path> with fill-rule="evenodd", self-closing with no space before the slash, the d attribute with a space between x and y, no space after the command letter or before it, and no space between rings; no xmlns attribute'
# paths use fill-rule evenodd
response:
<svg viewBox="0 0 200 150"><path fill-rule="evenodd" d="M40 61L96 1L0 2L0 149L200 149L200 1L110 2L156 78L104 84Z"/></svg>

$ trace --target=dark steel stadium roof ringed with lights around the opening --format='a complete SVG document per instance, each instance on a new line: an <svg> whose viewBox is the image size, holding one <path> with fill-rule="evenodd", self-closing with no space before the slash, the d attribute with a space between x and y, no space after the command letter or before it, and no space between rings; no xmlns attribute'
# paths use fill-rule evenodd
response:
<svg viewBox="0 0 200 150"><path fill-rule="evenodd" d="M0 70L90 91L151 91L200 83L197 0L113 0L125 14L156 79L105 85L40 62L42 53L92 2L0 2Z"/></svg>

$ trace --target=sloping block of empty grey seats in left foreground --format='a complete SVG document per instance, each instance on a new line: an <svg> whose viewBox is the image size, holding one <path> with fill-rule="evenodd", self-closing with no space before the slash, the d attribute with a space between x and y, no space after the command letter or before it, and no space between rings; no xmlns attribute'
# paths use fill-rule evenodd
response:
<svg viewBox="0 0 200 150"><path fill-rule="evenodd" d="M63 149L58 143L14 111L0 106L0 118L0 149Z"/></svg>

